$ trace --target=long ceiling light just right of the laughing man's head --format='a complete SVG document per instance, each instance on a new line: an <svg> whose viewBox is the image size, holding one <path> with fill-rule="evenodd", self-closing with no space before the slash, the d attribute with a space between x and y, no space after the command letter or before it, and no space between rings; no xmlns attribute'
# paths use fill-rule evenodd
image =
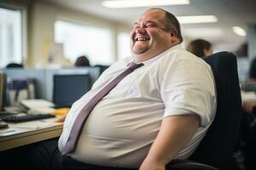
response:
<svg viewBox="0 0 256 170"><path fill-rule="evenodd" d="M195 24L218 21L217 17L214 15L177 16L177 20L181 24Z"/></svg>

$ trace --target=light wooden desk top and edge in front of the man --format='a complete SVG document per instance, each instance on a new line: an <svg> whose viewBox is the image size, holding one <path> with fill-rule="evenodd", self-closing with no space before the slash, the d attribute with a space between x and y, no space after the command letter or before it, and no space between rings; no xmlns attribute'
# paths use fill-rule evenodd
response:
<svg viewBox="0 0 256 170"><path fill-rule="evenodd" d="M0 151L59 137L63 123L54 121L55 118L9 123L9 128L0 129Z"/></svg>

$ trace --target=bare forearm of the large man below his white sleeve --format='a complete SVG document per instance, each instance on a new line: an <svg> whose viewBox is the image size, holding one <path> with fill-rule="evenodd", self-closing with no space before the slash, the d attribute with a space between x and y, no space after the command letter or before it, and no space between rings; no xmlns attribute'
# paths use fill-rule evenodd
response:
<svg viewBox="0 0 256 170"><path fill-rule="evenodd" d="M200 124L197 115L167 116L140 170L164 170L194 136Z"/></svg>

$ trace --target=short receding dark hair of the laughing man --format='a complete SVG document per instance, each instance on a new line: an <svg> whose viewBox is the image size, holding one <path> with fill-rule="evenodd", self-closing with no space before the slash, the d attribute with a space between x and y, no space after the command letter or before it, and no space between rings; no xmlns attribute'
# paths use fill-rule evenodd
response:
<svg viewBox="0 0 256 170"><path fill-rule="evenodd" d="M156 10L161 10L165 12L165 23L164 23L165 31L173 31L173 29L177 30L177 38L179 39L180 42L183 42L183 36L181 34L180 24L177 18L173 14L171 14L170 12L162 8L149 8L149 9L156 9Z"/></svg>

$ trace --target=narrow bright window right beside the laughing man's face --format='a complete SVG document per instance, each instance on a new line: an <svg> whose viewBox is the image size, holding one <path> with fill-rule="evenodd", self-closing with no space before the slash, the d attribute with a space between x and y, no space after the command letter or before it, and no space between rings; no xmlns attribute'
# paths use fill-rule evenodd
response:
<svg viewBox="0 0 256 170"><path fill-rule="evenodd" d="M131 56L130 50L130 34L120 32L118 34L118 58L122 59Z"/></svg>

